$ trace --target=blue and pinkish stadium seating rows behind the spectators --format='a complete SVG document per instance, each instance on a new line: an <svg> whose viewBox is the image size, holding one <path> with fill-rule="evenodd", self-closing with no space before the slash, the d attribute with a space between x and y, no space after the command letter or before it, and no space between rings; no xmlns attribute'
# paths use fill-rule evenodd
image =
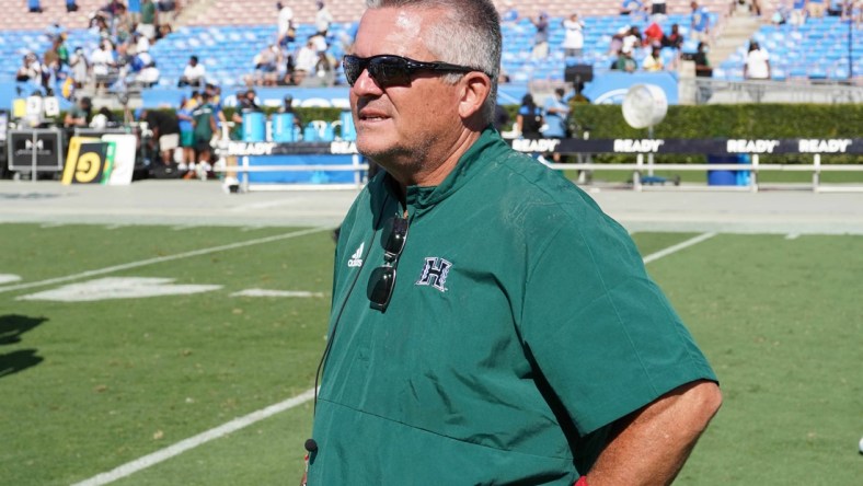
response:
<svg viewBox="0 0 863 486"><path fill-rule="evenodd" d="M24 2L0 15L0 81L14 79L14 72L21 63L22 56L33 51L42 56L49 47L46 28L59 22L68 28L69 49L81 46L90 53L97 42L96 34L87 31L88 19L96 9L104 5L105 0L78 0L80 10L67 13L65 0L43 0L45 12L28 13ZM313 33L311 24L314 15L314 2L308 0L283 0L295 12L298 21L297 42L304 40ZM352 23L356 22L361 10L363 0L327 0L327 7L335 16L329 38L333 45L333 56L340 58L342 39L347 36ZM515 9L520 19L504 24L503 69L510 81L525 83L529 81L562 81L565 66L590 65L597 73L609 69L613 57L610 53L612 35L622 27L634 23L643 30L646 19L638 16L621 16L618 13L620 2L605 0L597 2L579 2L577 10L585 21L585 49L579 58L565 58L561 48L563 28L561 19L573 10L569 0L497 0L502 11ZM668 15L661 21L667 32L672 23L681 26L688 39L683 45L684 53L695 50L695 42L689 34L689 0L669 0ZM702 0L713 15L714 24L721 24L730 11L730 0ZM151 48L153 59L161 70L159 85L175 86L188 57L197 55L206 66L208 78L223 86L235 86L243 83L243 77L254 69L253 57L264 47L273 44L276 38L277 11L275 0L195 0L184 2L185 14L176 19L180 26L158 42ZM779 0L762 0L767 20L770 12L776 9ZM544 59L531 58L534 27L529 16L537 12L552 15L550 23L550 55ZM814 79L842 80L852 72L863 74L860 54L863 53L863 32L849 31L848 25L840 23L838 18L826 16L810 20L795 28L789 25L774 26L762 23L755 34L773 58L775 79ZM856 59L849 59L849 46ZM288 46L290 49L297 44ZM743 56L747 46L740 45L728 59L716 63L714 77L737 81L743 79ZM645 53L636 53L636 61L641 61ZM663 49L666 66L671 65L676 53ZM853 68L853 69L852 69ZM336 74L336 82L343 82Z"/></svg>

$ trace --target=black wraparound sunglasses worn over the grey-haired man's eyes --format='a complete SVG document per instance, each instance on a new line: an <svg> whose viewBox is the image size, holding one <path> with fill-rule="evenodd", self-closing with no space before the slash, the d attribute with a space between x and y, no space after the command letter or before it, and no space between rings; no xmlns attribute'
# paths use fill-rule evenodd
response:
<svg viewBox="0 0 863 486"><path fill-rule="evenodd" d="M417 71L482 71L480 69L469 68L467 66L450 65L448 62L423 62L409 59L406 57L392 56L389 54L371 57L357 57L348 55L342 59L342 67L345 70L347 83L352 86L355 82L357 82L357 79L359 79L359 74L368 69L369 77L371 77L371 79L375 80L375 83L377 83L380 88L411 85L411 79Z"/></svg>

